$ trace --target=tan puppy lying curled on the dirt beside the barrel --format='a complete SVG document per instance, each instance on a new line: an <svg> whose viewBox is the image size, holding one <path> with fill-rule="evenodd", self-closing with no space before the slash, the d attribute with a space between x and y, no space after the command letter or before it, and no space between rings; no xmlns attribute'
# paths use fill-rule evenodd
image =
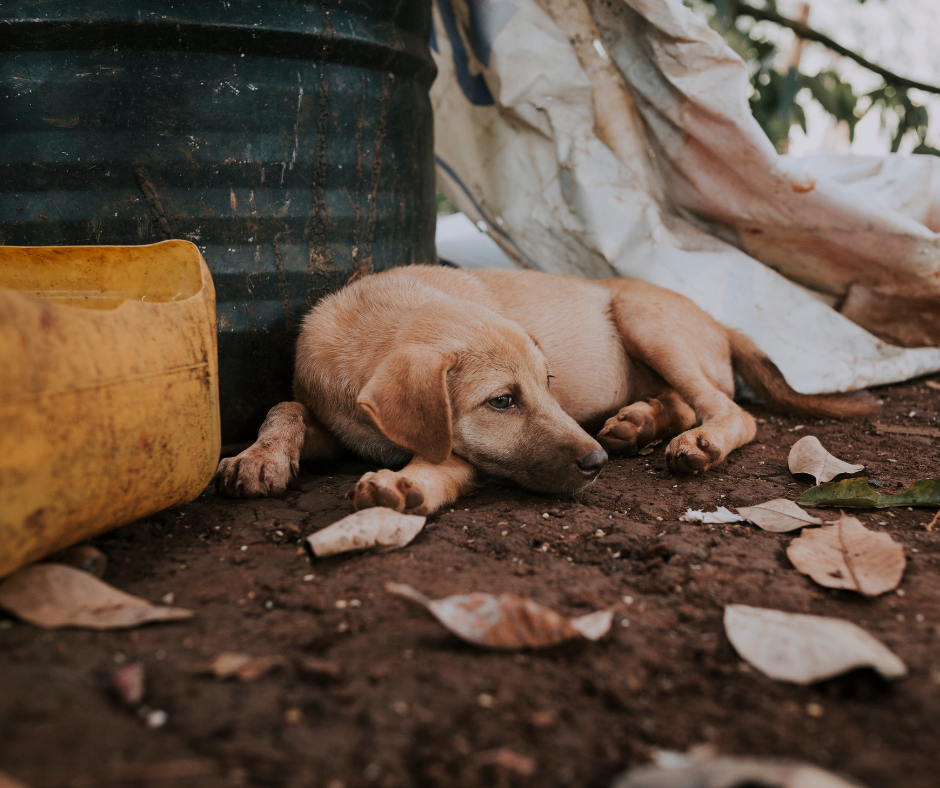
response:
<svg viewBox="0 0 940 788"><path fill-rule="evenodd" d="M280 495L301 459L346 449L404 465L363 476L350 493L356 509L427 514L483 475L575 492L607 452L669 436L669 467L697 473L756 433L731 399L735 371L777 410L870 410L858 397L797 394L750 340L654 285L397 268L310 311L296 401L271 409L258 441L222 460L215 483L226 495ZM588 433L597 430L595 441Z"/></svg>

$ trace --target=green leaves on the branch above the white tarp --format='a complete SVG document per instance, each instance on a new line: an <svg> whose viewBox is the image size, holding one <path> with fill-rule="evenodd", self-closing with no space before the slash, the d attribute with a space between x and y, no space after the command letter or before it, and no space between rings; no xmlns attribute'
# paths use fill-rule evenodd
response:
<svg viewBox="0 0 940 788"><path fill-rule="evenodd" d="M848 124L850 140L854 139L855 126L865 114L876 111L881 117L882 127L893 129L892 152L898 150L907 134L913 133L917 137L915 153L940 155L940 150L925 142L927 109L914 103L906 89L886 83L870 93L856 95L852 86L833 71L809 76L796 68L790 68L787 73L781 74L776 68L779 53L774 43L760 35L760 28L755 30L753 25L742 25L739 22L742 18L748 18L746 6L739 0L685 2L704 13L711 27L747 63L753 88L748 99L751 111L777 150L786 150L792 126L799 125L806 131L803 108L796 101L797 93L806 88L836 121ZM766 0L763 8L776 12L776 0Z"/></svg>

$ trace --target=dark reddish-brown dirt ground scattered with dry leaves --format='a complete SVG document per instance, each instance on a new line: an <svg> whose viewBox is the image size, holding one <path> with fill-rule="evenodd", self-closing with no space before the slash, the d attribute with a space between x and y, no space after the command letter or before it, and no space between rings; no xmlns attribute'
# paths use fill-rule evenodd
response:
<svg viewBox="0 0 940 788"><path fill-rule="evenodd" d="M304 468L284 500L207 491L125 526L95 541L109 558L105 579L154 601L172 593L197 617L44 632L0 615L0 768L34 788L607 786L657 750L707 744L805 759L870 788L935 788L940 528L925 530L933 512L859 510L907 555L903 595L877 599L796 572L785 554L792 535L677 519L687 507L795 499L809 482L790 475L786 457L807 434L866 465L886 492L940 475L936 439L874 427L940 426L940 392L920 380L876 394L883 409L860 422L796 429L797 420L755 409L757 440L699 477L672 476L660 446L612 462L575 499L489 486L386 555L311 567L298 547L299 536L347 513L343 496L369 468L353 461ZM433 597L509 591L563 613L618 613L598 643L490 653L388 594L389 580ZM910 675L890 686L871 671L809 688L772 681L729 644L727 603L848 619ZM285 663L251 682L187 672L225 651ZM332 664L311 673L311 657ZM159 729L110 689L113 670L132 661L146 667L148 707L168 714Z"/></svg>

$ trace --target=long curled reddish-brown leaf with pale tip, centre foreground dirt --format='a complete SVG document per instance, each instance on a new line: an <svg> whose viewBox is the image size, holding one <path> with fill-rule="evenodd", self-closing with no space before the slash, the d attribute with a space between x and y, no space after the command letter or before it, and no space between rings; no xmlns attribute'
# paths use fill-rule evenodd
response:
<svg viewBox="0 0 940 788"><path fill-rule="evenodd" d="M385 588L426 607L457 637L487 648L539 648L575 638L599 640L610 631L614 616L613 610L599 610L565 618L515 594L462 594L431 600L401 583L386 583Z"/></svg>

